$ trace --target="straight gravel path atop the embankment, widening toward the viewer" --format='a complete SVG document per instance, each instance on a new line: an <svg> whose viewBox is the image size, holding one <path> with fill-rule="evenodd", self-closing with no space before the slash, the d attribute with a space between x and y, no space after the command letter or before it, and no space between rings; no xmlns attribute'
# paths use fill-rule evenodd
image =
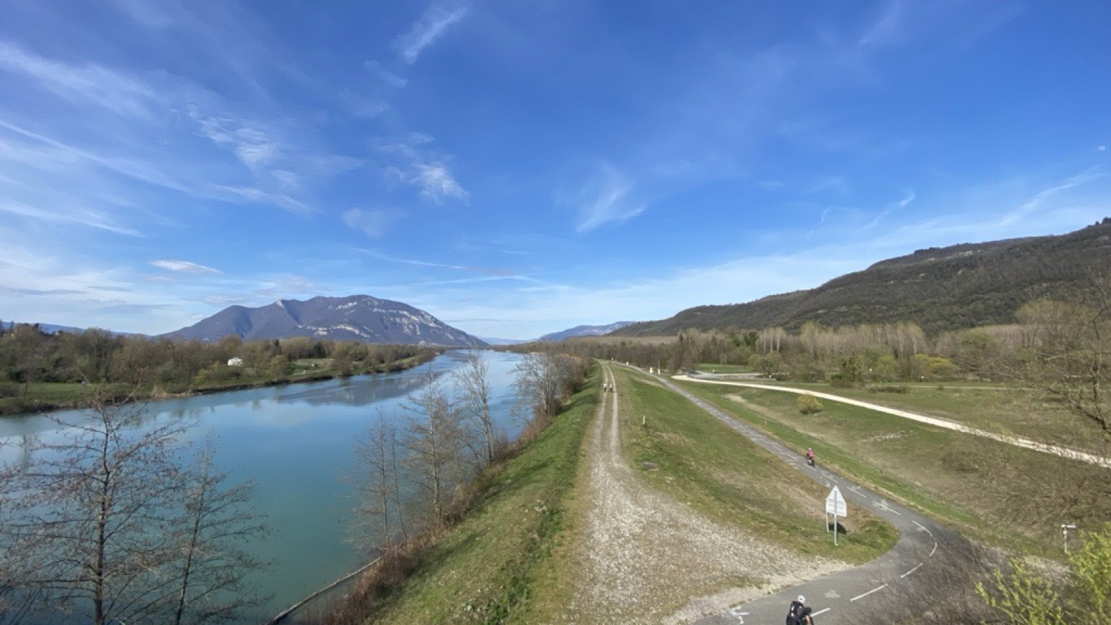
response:
<svg viewBox="0 0 1111 625"><path fill-rule="evenodd" d="M609 367L605 384L614 389ZM588 442L585 536L568 623L689 623L847 568L803 563L645 485L622 457L618 404L617 391L603 394Z"/></svg>

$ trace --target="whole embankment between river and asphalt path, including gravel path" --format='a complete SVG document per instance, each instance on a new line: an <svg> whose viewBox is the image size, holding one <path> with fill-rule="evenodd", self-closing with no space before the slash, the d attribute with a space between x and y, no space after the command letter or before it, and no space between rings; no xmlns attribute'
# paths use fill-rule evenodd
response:
<svg viewBox="0 0 1111 625"><path fill-rule="evenodd" d="M679 622L871 560L897 538L860 512L830 544L821 515L797 505L821 502L821 486L651 378L604 365L486 480L458 526L372 568L343 618L309 622Z"/></svg>

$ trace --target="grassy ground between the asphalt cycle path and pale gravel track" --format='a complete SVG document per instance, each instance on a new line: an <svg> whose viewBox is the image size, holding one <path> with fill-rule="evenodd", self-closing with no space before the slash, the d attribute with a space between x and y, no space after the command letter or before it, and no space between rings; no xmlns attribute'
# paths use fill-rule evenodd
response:
<svg viewBox="0 0 1111 625"><path fill-rule="evenodd" d="M994 544L1050 553L1059 548L1057 525L1045 519L1053 512L1045 506L1052 504L1044 497L1068 488L1070 480L1107 479L1107 469L853 406L825 401L822 413L805 416L795 409L792 394L684 386L797 449L814 447L819 462ZM729 396L743 398L747 407ZM924 404L943 404L957 413L962 401L968 397L953 395ZM923 404L902 396L893 403L912 409ZM1093 518L1111 514L1111 502L1095 506Z"/></svg>

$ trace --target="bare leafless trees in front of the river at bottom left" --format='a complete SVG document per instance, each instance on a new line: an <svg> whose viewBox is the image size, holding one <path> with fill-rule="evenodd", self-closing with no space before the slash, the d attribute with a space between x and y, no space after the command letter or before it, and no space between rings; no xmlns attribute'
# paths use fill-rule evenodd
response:
<svg viewBox="0 0 1111 625"><path fill-rule="evenodd" d="M0 470L0 577L16 606L6 616L202 623L247 605L244 591L200 609L253 568L236 550L258 529L236 512L246 492L220 489L208 452L200 470L183 468L187 423L146 423L137 404L90 406L88 420L59 420L60 442ZM198 611L176 616L182 595Z"/></svg>

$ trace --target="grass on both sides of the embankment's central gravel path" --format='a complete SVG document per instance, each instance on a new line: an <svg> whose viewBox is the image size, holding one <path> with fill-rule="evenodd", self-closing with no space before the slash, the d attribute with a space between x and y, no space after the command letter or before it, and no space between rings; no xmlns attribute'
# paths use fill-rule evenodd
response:
<svg viewBox="0 0 1111 625"><path fill-rule="evenodd" d="M622 444L630 462L643 469L644 487L800 554L865 562L894 543L890 526L858 515L841 547L833 547L824 528L823 487L658 383L621 368L614 375ZM595 368L589 387L491 479L482 503L408 583L382 597L369 622L546 623L565 613L583 530L581 488L589 467L581 458L600 385Z"/></svg>

